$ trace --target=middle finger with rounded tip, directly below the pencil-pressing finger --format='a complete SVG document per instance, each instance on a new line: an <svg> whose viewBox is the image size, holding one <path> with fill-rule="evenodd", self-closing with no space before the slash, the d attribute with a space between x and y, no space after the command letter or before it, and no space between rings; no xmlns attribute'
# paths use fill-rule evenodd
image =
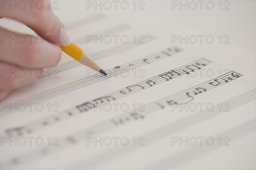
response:
<svg viewBox="0 0 256 170"><path fill-rule="evenodd" d="M25 68L50 68L61 59L61 48L43 39L0 28L0 60Z"/></svg>

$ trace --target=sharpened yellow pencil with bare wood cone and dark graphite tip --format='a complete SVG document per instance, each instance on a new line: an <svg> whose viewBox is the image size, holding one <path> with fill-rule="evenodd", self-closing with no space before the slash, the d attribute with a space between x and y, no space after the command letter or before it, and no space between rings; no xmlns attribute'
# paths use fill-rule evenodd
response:
<svg viewBox="0 0 256 170"><path fill-rule="evenodd" d="M101 74L107 75L106 71L100 68L99 65L97 65L89 55L85 54L84 51L76 46L73 42L71 42L69 46L61 46L61 49L81 64L86 65L87 67L90 67L93 70L100 72Z"/></svg>

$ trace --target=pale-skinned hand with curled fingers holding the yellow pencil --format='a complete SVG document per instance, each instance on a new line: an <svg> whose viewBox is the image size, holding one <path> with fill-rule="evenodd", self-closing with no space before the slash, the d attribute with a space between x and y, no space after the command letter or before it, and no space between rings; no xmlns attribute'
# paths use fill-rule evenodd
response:
<svg viewBox="0 0 256 170"><path fill-rule="evenodd" d="M6 17L17 20L44 38L41 43L37 43L35 37L32 37L31 41L27 40L24 43L1 40L0 69L5 74L1 74L0 77L0 101L6 99L15 89L26 86L38 79L42 73L38 69L43 70L43 68L56 66L62 54L59 46L67 46L71 42L63 23L46 4L48 1L41 0L41 2L44 3L44 8L40 10L32 5L31 8L28 7L26 9L9 9L9 6L3 6L0 11L0 18ZM0 35L1 37L15 37L15 35L19 36L21 34L1 27ZM56 38L49 39L49 37L56 37L56 35L58 37L57 41ZM25 70L27 72L26 77L9 74L9 72L15 72L15 69L16 71ZM6 71L8 72L7 74Z"/></svg>

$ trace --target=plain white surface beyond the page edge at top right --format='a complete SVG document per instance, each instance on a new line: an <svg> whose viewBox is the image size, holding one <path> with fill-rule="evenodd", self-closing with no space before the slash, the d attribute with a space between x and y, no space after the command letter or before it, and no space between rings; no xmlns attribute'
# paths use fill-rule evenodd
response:
<svg viewBox="0 0 256 170"><path fill-rule="evenodd" d="M179 0L178 0L179 1ZM183 0L184 1L184 0ZM197 0L195 0L197 2ZM213 0L215 5L219 0ZM224 0L223 0L224 1ZM170 20L197 28L207 34L230 35L230 42L247 49L256 50L256 1L229 0L230 10L219 10L215 6L208 10L199 6L195 10L174 7L171 0L145 1L145 10L151 11Z"/></svg>

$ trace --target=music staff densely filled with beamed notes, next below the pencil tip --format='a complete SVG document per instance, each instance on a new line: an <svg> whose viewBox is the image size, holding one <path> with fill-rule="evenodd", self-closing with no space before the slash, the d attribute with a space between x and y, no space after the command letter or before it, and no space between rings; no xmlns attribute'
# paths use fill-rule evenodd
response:
<svg viewBox="0 0 256 170"><path fill-rule="evenodd" d="M205 65L206 66L206 65L209 65L211 62L209 60L207 60L207 59L203 59L202 58L202 59L198 59L198 60L196 60L196 61L194 61L192 63L189 63L187 65L191 65L191 64L195 64L195 63L200 63L201 65ZM183 66L181 66L179 68L176 68L175 70L180 71L181 74L185 74L185 72L183 72L182 70L186 69L187 65L183 65ZM196 68L197 67L195 67L195 69ZM181 74L176 74L176 75L173 74L172 77L173 78L180 77ZM114 100L121 99L121 98L126 97L126 96L128 96L130 94L134 94L134 93L136 93L138 91L142 91L142 90L144 90L146 88L152 87L152 85L148 83L149 81L154 82L154 85L158 85L158 84L160 84L162 82L169 82L169 81L166 81L166 79L161 77L160 75L157 75L157 76L151 77L149 79L143 80L141 82L138 82L138 83L136 83L134 85L130 85L130 86L126 87L126 88L122 88L122 89L119 89L117 91L111 92L110 94L106 94L104 96L97 97L96 99L93 99L91 101L87 101L87 102L84 102L82 104L76 105L75 107L70 108L70 109L68 109L68 110L66 110L64 112L55 114L55 116L49 116L49 117L46 117L44 119L32 122L29 125L26 125L26 127L31 129L31 130L33 130L33 132L34 132L34 131L42 128L43 126L45 126L42 122L46 122L47 121L47 122L51 122L51 124L56 123L56 121L54 120L55 117L59 117L58 122L60 122L61 120L69 118L70 116L79 115L79 113L88 112L97 103L113 102ZM131 87L133 87L133 88L131 88ZM186 96L186 98L188 98L188 96ZM72 114L70 115L70 114L67 114L67 113L72 113ZM51 125L51 124L49 123L47 125ZM15 133L15 131L13 131L13 133ZM13 133L8 133L7 135L8 136L13 136Z"/></svg>

